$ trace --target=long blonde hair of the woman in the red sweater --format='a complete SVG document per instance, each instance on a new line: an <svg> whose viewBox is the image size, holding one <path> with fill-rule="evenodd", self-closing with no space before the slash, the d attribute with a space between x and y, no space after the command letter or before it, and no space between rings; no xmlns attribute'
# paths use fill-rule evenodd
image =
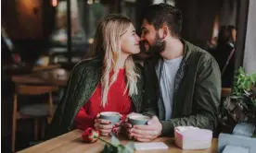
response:
<svg viewBox="0 0 256 153"><path fill-rule="evenodd" d="M87 58L102 57L103 72L101 77L102 86L102 101L101 105L106 106L108 102L109 88L116 81L119 69L116 64L121 53L121 36L127 31L132 24L129 18L124 18L120 15L110 15L103 19L96 28L95 40L92 50L87 53ZM137 94L137 77L134 61L132 56L128 56L124 63L126 87L124 93L132 96ZM113 71L114 74L109 78L109 73ZM110 81L109 81L110 80ZM123 93L123 94L124 94Z"/></svg>

